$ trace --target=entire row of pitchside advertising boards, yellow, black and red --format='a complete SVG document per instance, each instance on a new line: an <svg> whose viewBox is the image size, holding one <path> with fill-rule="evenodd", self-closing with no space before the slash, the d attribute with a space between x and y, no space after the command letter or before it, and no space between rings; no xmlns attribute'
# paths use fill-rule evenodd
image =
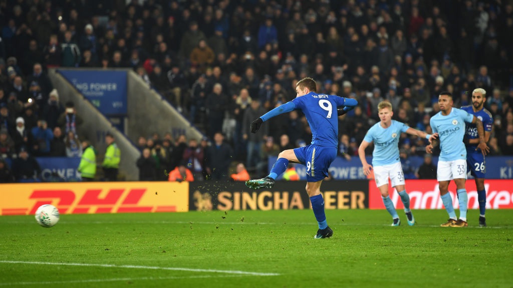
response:
<svg viewBox="0 0 513 288"><path fill-rule="evenodd" d="M487 209L513 208L513 180L486 180ZM390 198L398 209L396 191ZM478 209L475 183L466 182L468 208ZM406 180L412 209L443 209L436 180ZM373 180L325 181L325 208L384 209ZM449 184L455 208L456 186ZM277 181L249 190L244 182L76 182L0 184L0 215L29 215L43 204L62 214L309 209L304 181Z"/></svg>

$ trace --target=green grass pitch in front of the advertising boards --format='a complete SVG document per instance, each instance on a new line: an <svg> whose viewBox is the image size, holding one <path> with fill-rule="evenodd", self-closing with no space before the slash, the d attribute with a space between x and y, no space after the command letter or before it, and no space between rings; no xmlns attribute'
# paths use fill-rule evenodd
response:
<svg viewBox="0 0 513 288"><path fill-rule="evenodd" d="M513 210L310 210L0 216L1 287L513 287Z"/></svg>

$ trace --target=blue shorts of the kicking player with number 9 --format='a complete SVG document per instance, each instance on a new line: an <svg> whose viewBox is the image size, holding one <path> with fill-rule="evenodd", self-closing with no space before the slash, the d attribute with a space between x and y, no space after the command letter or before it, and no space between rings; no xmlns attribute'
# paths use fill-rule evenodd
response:
<svg viewBox="0 0 513 288"><path fill-rule="evenodd" d="M308 145L294 149L295 157L306 166L306 181L317 182L328 176L331 162L337 158L336 147Z"/></svg>

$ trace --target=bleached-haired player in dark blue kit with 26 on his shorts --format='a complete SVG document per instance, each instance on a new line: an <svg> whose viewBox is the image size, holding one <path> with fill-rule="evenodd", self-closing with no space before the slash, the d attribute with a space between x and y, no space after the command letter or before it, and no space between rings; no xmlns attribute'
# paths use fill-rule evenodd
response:
<svg viewBox="0 0 513 288"><path fill-rule="evenodd" d="M490 139L491 128L494 126L494 119L490 112L486 110L484 102L486 101L486 91L483 88L476 88L472 91L472 105L463 106L461 109L476 116L483 122L484 141ZM486 191L484 187L484 175L486 173L485 157L481 150L477 148L479 144L478 130L476 125L468 124L465 129L465 138L463 142L467 147L467 164L470 174L474 176L476 181L476 190L478 191L479 202L479 226L486 226Z"/></svg>

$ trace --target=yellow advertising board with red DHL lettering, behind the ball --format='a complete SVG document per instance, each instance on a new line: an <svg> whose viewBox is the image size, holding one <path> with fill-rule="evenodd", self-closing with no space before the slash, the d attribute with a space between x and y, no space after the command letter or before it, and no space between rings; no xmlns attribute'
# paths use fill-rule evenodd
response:
<svg viewBox="0 0 513 288"><path fill-rule="evenodd" d="M0 186L0 215L34 214L43 204L61 214L189 211L188 182L19 183Z"/></svg>

